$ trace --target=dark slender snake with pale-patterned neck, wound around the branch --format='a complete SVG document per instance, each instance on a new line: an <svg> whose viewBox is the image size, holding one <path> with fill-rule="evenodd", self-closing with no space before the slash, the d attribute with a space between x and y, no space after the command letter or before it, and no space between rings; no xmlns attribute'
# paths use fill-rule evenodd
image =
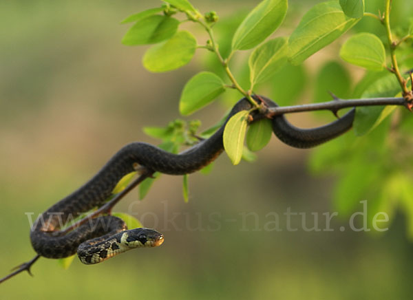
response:
<svg viewBox="0 0 413 300"><path fill-rule="evenodd" d="M253 96L264 107L277 107L271 99ZM240 111L251 111L253 105L246 98L239 100L229 112L222 126L207 139L201 140L181 153L169 153L152 144L131 142L110 158L83 186L41 213L30 231L36 253L47 258L69 257L77 253L83 264L97 264L133 248L160 246L162 233L151 228L128 229L125 222L113 215L103 215L74 228L65 235L56 235L74 216L102 206L123 176L136 171L137 166L169 175L184 175L202 169L224 151L223 133L229 119ZM271 120L275 136L291 147L315 147L336 138L352 127L355 109L334 122L321 127L301 129L290 124L284 114ZM260 111L252 111L252 122L265 118Z"/></svg>

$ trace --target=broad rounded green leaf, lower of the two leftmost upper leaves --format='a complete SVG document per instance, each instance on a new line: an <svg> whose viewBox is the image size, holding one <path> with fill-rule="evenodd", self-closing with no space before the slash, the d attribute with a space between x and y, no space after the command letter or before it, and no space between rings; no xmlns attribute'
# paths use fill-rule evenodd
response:
<svg viewBox="0 0 413 300"><path fill-rule="evenodd" d="M168 41L149 48L143 56L143 65L151 72L178 69L191 61L195 50L195 37L187 31L180 31Z"/></svg>

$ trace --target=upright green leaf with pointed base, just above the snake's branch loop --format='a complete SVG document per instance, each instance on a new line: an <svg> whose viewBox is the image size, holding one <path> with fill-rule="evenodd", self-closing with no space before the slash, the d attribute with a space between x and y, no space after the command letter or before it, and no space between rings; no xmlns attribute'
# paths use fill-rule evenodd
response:
<svg viewBox="0 0 413 300"><path fill-rule="evenodd" d="M287 39L279 37L257 47L251 53L248 65L250 68L251 89L255 83L268 79L287 61Z"/></svg>

